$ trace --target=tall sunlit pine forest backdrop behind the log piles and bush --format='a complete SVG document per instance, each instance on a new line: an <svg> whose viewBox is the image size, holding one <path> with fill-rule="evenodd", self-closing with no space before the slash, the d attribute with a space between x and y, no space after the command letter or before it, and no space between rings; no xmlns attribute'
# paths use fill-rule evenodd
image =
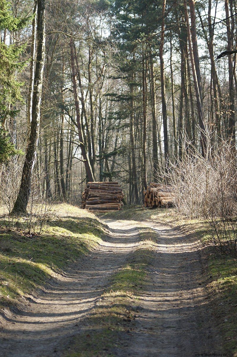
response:
<svg viewBox="0 0 237 357"><path fill-rule="evenodd" d="M2 1L3 201L33 180L34 200L79 204L86 180L118 180L141 204L188 152L235 144L236 4L189 6L50 2L37 23L37 4Z"/></svg>

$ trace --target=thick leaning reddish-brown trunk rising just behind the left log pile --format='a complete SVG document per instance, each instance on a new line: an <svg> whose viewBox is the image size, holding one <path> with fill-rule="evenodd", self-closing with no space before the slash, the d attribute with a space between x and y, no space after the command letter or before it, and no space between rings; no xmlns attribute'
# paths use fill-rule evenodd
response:
<svg viewBox="0 0 237 357"><path fill-rule="evenodd" d="M75 70L75 57L74 57L75 44L73 42L73 39L70 40L69 46L70 46L71 68L72 68L73 94L74 94L75 110L76 110L76 117L77 117L77 129L78 129L78 136L80 141L80 149L85 164L86 176L88 177L89 181L95 181L93 171L91 169L89 157L85 149L84 135L81 128L81 117L80 117L79 99L78 99L78 91L77 91L77 72Z"/></svg>

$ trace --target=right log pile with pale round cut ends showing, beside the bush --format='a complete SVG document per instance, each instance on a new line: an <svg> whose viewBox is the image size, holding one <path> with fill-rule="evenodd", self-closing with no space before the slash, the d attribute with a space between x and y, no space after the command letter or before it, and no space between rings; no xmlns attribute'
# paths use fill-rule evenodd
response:
<svg viewBox="0 0 237 357"><path fill-rule="evenodd" d="M151 182L147 190L143 190L145 207L173 206L175 190L172 186Z"/></svg>

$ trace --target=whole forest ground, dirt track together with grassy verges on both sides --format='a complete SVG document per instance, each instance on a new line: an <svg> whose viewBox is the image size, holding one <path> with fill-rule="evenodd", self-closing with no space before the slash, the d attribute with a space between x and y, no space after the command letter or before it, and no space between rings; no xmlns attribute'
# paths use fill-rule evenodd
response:
<svg viewBox="0 0 237 357"><path fill-rule="evenodd" d="M70 209L41 236L18 232L5 243L1 356L235 355L236 268L201 243L202 222L192 231L165 210L129 208L98 220Z"/></svg>

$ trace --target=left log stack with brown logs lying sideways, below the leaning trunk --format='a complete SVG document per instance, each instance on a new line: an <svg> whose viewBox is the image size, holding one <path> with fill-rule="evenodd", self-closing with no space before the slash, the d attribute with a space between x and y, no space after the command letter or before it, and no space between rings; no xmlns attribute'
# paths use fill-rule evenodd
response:
<svg viewBox="0 0 237 357"><path fill-rule="evenodd" d="M121 210L123 191L118 182L88 182L82 193L82 208Z"/></svg>

